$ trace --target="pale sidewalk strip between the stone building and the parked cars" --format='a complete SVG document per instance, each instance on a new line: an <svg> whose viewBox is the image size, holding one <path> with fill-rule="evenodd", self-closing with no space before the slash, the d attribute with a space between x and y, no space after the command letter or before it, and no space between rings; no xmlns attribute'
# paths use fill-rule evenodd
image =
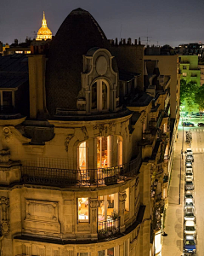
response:
<svg viewBox="0 0 204 256"><path fill-rule="evenodd" d="M172 177L168 195L168 207L166 212L163 236L162 256L183 255L183 212L184 212L184 172L183 161L181 169L181 204L179 202L179 177L180 177L180 154L182 147L182 131L178 131L178 141L175 143L175 154L173 159Z"/></svg>

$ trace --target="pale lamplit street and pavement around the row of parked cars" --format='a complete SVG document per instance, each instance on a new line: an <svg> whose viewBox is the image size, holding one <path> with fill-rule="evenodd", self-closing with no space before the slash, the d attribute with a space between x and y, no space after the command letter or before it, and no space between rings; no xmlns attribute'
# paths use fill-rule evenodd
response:
<svg viewBox="0 0 204 256"><path fill-rule="evenodd" d="M196 230L197 230L197 256L202 256L204 252L204 127L198 127L197 123L201 119L190 119L194 123L194 127L183 127L181 122L178 125L178 141L175 144L175 154L173 159L173 170L171 184L169 190L169 206L167 208L164 231L168 234L163 237L162 256L178 256L183 255L184 242L184 163L181 159L181 149L184 134L184 151L191 146L194 154L194 198L195 198L195 215L196 215ZM192 144L185 143L186 131L192 132ZM181 192L179 205L179 178L181 164Z"/></svg>

